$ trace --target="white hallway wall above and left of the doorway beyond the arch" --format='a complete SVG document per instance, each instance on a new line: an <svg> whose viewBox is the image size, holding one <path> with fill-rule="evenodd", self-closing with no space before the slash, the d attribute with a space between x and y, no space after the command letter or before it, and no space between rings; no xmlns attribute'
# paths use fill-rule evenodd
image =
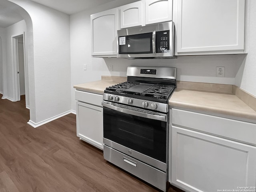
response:
<svg viewBox="0 0 256 192"><path fill-rule="evenodd" d="M14 100L12 38L23 34L23 32L26 33L26 22L24 20L6 28L6 63L4 63L4 83L6 91L4 91L4 97L10 100Z"/></svg>

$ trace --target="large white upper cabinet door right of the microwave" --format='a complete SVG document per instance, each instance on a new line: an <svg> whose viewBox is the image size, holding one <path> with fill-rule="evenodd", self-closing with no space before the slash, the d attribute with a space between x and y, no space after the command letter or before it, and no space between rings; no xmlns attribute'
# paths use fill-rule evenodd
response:
<svg viewBox="0 0 256 192"><path fill-rule="evenodd" d="M246 0L174 0L176 54L232 54L245 50Z"/></svg>

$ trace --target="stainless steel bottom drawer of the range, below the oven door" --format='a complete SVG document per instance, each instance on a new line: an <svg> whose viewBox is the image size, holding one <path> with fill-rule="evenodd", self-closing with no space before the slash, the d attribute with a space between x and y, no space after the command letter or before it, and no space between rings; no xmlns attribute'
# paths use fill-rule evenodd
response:
<svg viewBox="0 0 256 192"><path fill-rule="evenodd" d="M143 162L131 158L130 156L106 145L104 145L104 159L152 184L160 190L166 191L166 172L162 172L152 166L144 164Z"/></svg>

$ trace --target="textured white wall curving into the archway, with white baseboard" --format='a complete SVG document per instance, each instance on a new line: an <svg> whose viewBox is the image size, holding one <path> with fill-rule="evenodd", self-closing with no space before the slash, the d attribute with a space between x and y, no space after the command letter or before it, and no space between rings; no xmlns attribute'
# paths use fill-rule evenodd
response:
<svg viewBox="0 0 256 192"><path fill-rule="evenodd" d="M33 36L28 42L28 52L33 52L28 55L30 124L38 126L71 108L69 16L32 1L9 1L26 10L30 16L26 22L32 21L28 26L28 36Z"/></svg>

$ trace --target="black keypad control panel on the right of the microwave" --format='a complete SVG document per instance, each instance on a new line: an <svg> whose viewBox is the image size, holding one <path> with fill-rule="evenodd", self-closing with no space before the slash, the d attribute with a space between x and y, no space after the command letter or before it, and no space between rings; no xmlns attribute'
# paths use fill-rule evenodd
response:
<svg viewBox="0 0 256 192"><path fill-rule="evenodd" d="M156 32L156 53L170 52L170 30Z"/></svg>

